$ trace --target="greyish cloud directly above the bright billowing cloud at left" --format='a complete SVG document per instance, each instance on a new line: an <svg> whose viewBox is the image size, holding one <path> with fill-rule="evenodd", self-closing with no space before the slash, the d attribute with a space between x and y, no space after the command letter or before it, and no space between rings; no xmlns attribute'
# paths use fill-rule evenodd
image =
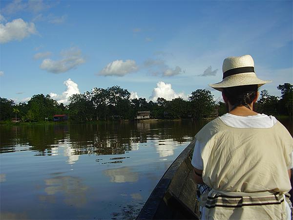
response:
<svg viewBox="0 0 293 220"><path fill-rule="evenodd" d="M75 68L85 62L82 52L76 47L61 51L61 60L44 59L40 68L52 73L62 73Z"/></svg>

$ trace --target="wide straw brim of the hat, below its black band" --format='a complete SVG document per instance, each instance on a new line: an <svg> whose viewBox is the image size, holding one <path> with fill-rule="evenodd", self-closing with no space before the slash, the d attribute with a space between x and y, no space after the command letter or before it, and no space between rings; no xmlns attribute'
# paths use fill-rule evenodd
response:
<svg viewBox="0 0 293 220"><path fill-rule="evenodd" d="M272 81L265 81L258 79L254 72L250 73L241 73L237 75L232 75L224 78L221 82L215 84L209 84L211 88L214 88L218 91L223 91L223 88L229 87L238 87L238 86L247 86L247 85L257 85L261 87Z"/></svg>

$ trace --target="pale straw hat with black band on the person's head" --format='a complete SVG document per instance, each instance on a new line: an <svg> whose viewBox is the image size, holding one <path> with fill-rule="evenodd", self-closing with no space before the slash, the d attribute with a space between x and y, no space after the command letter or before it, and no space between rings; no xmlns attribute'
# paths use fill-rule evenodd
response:
<svg viewBox="0 0 293 220"><path fill-rule="evenodd" d="M209 84L209 86L222 91L223 88L245 85L261 87L271 82L258 79L254 72L254 62L251 55L244 55L226 58L223 62L223 80L220 83Z"/></svg>

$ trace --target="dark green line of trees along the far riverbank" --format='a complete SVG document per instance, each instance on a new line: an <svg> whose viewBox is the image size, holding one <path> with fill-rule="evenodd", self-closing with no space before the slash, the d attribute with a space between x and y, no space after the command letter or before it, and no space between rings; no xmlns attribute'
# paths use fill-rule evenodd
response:
<svg viewBox="0 0 293 220"><path fill-rule="evenodd" d="M277 88L281 90L280 97L270 95L267 90L260 91L255 110L292 117L293 85L285 83ZM168 101L159 97L156 102L147 102L145 98L130 99L130 92L118 86L93 88L83 94L70 96L66 106L43 94L33 95L27 103L19 104L0 97L0 121L10 121L12 118L21 122L39 122L45 118L50 121L55 114L67 114L69 120L77 122L133 120L137 111L150 111L151 118L158 119L202 119L225 114L227 108L225 103L215 103L207 89L192 91L188 100L178 97Z"/></svg>

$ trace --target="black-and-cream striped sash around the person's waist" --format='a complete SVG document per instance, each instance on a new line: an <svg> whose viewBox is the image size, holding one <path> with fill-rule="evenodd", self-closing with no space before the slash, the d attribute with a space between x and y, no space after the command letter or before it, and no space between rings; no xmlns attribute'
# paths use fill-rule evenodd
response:
<svg viewBox="0 0 293 220"><path fill-rule="evenodd" d="M214 208L214 207L237 208L242 206L273 205L273 204L281 204L283 201L284 201L284 196L283 194L280 194L280 193L263 196L263 197L215 195L213 197L208 196L206 208L208 209Z"/></svg>

